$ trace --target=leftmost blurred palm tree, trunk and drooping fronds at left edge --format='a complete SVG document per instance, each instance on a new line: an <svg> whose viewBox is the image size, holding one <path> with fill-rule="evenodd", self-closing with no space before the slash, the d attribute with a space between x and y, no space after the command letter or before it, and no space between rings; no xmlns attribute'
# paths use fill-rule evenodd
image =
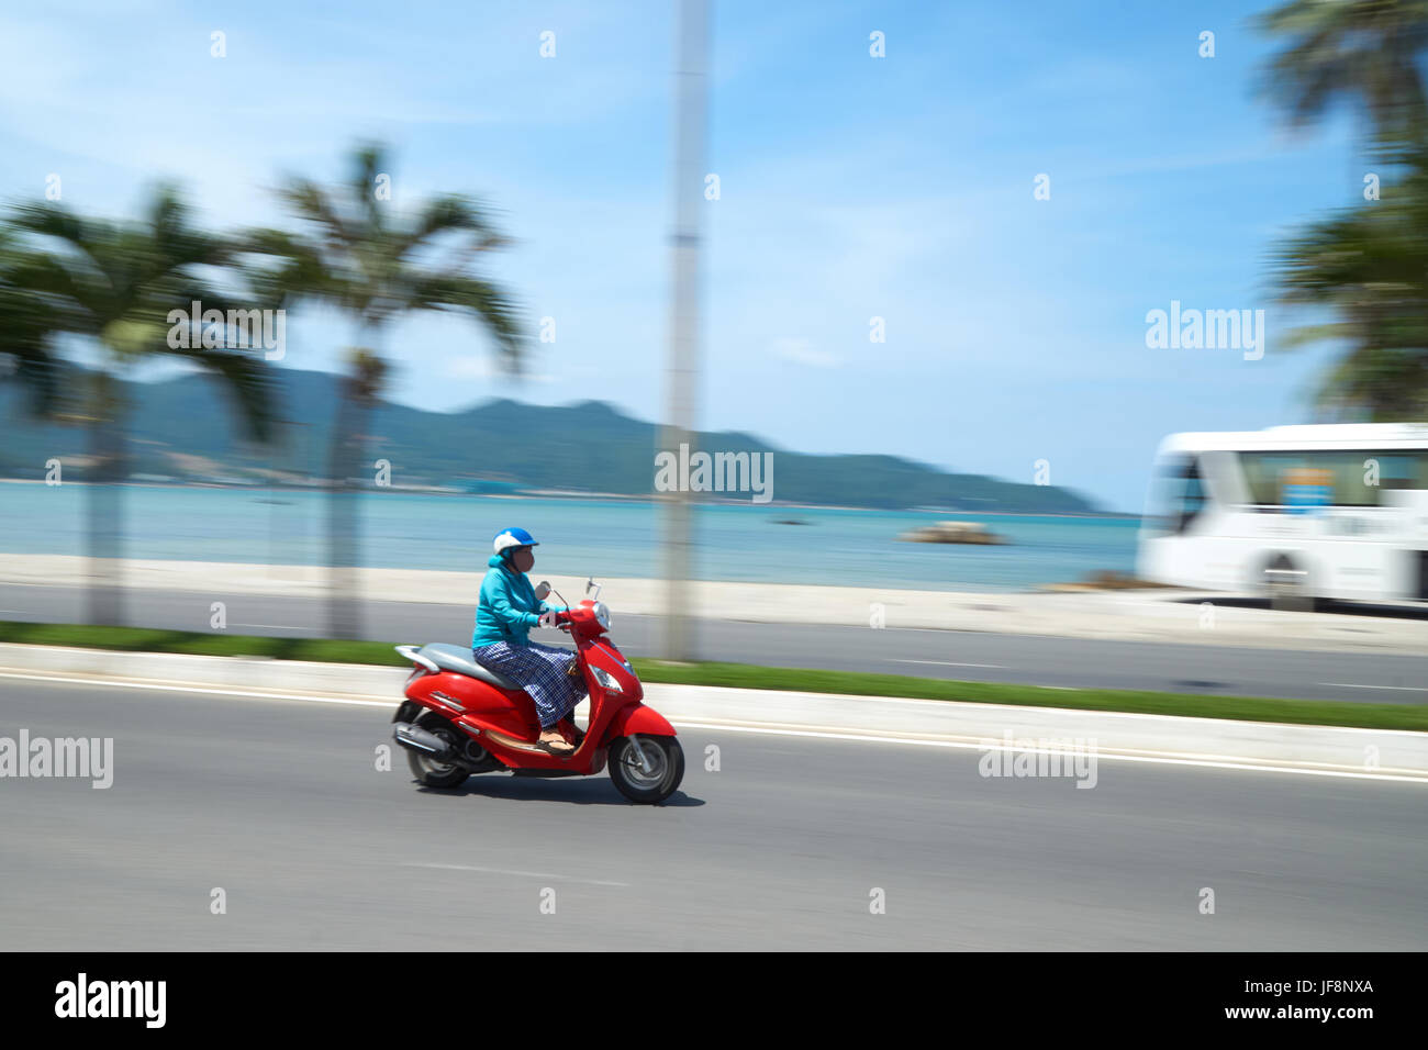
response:
<svg viewBox="0 0 1428 1050"><path fill-rule="evenodd" d="M188 210L166 186L154 191L139 221L84 219L44 203L16 209L10 227L33 246L10 267L21 304L40 311L51 330L90 340L101 356L80 391L80 420L89 434L89 616L90 623L119 624L124 539L119 486L129 474L127 373L157 354L187 359L223 383L251 437L261 441L270 433L271 380L261 359L173 347L169 340L170 311L187 311L196 300L224 313L256 306L233 301L201 277L201 267L234 266L243 246L191 226ZM10 317L6 327L17 323ZM30 367L43 373L49 361L30 353Z"/></svg>

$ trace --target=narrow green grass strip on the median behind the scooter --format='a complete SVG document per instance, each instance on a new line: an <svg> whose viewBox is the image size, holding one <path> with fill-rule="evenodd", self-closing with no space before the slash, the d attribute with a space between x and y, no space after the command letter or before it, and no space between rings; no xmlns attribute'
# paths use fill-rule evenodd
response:
<svg viewBox="0 0 1428 1050"><path fill-rule="evenodd" d="M93 627L63 623L0 620L0 643L77 646L133 653L201 656L266 656L274 660L406 666L386 641L330 639L266 639L247 634L203 634L146 627ZM1428 704L1359 704L1338 700L1152 693L1120 689L1044 689L1000 681L948 681L904 674L865 674L805 667L760 667L743 663L670 664L634 659L643 681L734 689L778 689L798 693L897 696L1022 707L1070 707L1088 711L1180 714L1194 719L1242 719L1297 726L1354 726L1428 731Z"/></svg>

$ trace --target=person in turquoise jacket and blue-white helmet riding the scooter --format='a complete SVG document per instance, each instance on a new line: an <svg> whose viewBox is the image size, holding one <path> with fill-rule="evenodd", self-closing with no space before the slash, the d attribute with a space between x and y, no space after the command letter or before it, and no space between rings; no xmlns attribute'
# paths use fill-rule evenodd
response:
<svg viewBox="0 0 1428 1050"><path fill-rule="evenodd" d="M481 601L476 610L471 654L478 664L518 681L540 717L537 746L551 754L570 754L575 749L557 729L585 696L585 680L571 673L575 654L568 649L543 646L527 640L536 626L555 626L551 606L536 597L528 573L536 566L533 547L540 544L524 529L503 529L491 544L496 553L486 563Z"/></svg>

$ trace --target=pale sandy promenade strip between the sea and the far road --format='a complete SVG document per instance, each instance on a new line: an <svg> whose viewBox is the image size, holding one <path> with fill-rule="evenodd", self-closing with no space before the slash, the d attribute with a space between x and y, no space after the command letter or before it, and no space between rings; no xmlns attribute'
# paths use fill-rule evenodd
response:
<svg viewBox="0 0 1428 1050"><path fill-rule="evenodd" d="M360 570L361 593L384 601L423 601L476 607L486 566L470 573L418 569ZM0 554L0 583L81 587L84 559L59 554ZM585 580L545 576L571 601ZM601 600L621 613L658 616L665 593L660 580L603 579ZM314 566L231 561L144 561L124 564L124 586L200 594L326 594L327 570ZM818 587L774 583L691 584L694 616L754 623L815 623L887 629L1005 631L1072 639L1164 641L1428 654L1428 621L1412 617L1295 613L1218 604L1221 594L1184 590L1075 593L972 593L892 587ZM1210 604L1210 609L1204 603Z"/></svg>

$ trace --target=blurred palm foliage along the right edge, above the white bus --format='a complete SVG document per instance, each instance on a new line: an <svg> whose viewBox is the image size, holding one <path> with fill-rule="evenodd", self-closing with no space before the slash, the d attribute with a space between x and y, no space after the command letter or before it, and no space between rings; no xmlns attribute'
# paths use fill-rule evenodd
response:
<svg viewBox="0 0 1428 1050"><path fill-rule="evenodd" d="M1347 340L1319 381L1321 410L1354 419L1422 417L1428 390L1428 0L1288 0L1258 26L1288 40L1265 90L1304 126L1338 100L1357 101L1372 153L1401 181L1381 199L1315 223L1277 249L1281 301L1329 307L1335 320L1295 329L1287 349Z"/></svg>

